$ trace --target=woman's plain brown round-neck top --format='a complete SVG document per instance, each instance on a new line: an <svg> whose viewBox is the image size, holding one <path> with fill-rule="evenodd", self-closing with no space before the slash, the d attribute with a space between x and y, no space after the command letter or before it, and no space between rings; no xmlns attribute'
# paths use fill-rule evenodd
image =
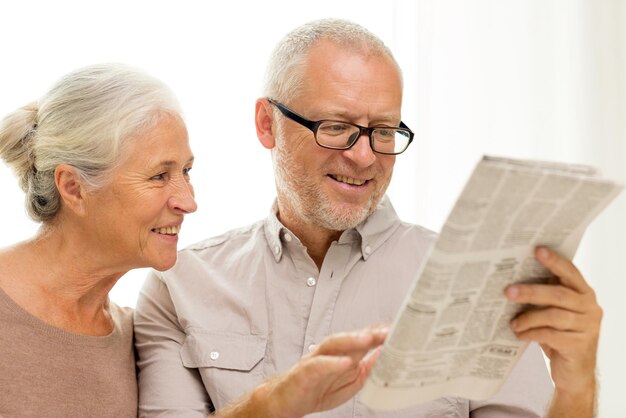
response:
<svg viewBox="0 0 626 418"><path fill-rule="evenodd" d="M137 416L132 311L103 337L52 327L0 289L0 417Z"/></svg>

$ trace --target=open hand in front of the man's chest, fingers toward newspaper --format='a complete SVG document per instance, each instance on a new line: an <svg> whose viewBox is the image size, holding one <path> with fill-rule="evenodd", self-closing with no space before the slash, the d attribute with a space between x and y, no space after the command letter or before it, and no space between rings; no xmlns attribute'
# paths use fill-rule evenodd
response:
<svg viewBox="0 0 626 418"><path fill-rule="evenodd" d="M288 372L218 416L298 418L335 408L363 387L380 351L370 350L386 337L384 327L331 335Z"/></svg>

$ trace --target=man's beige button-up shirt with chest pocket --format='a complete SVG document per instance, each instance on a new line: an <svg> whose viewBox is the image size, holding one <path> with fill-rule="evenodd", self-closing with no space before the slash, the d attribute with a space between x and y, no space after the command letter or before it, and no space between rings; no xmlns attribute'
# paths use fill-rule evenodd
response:
<svg viewBox="0 0 626 418"><path fill-rule="evenodd" d="M320 271L272 212L193 245L139 296L140 415L204 416L285 371L329 334L390 323L435 235L401 222L388 199L331 245ZM552 391L532 346L487 402L442 398L375 413L358 397L325 417L540 416Z"/></svg>

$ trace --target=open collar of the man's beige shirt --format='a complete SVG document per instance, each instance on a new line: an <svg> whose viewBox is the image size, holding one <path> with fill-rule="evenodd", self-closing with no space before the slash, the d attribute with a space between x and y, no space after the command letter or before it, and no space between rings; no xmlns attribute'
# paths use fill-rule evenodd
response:
<svg viewBox="0 0 626 418"><path fill-rule="evenodd" d="M285 235L294 237L276 216L277 204L274 201L270 213L265 221L265 238L269 249L279 262L283 255L283 240ZM339 237L339 243L348 243L360 240L361 255L367 260L400 225L400 219L386 195L381 199L376 210L356 228L344 231Z"/></svg>

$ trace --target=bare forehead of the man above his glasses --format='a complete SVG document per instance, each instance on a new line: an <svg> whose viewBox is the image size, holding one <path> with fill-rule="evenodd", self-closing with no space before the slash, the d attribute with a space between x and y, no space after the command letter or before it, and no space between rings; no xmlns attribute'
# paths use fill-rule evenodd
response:
<svg viewBox="0 0 626 418"><path fill-rule="evenodd" d="M296 100L305 107L399 118L402 80L386 54L321 40L310 49L303 76L302 93Z"/></svg>

